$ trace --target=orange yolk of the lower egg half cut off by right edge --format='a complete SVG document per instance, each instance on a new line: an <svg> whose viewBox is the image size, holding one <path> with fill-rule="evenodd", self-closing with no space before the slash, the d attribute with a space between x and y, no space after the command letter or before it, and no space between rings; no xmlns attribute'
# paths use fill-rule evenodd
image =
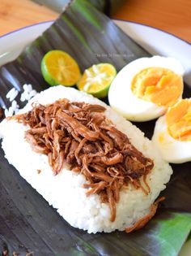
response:
<svg viewBox="0 0 191 256"><path fill-rule="evenodd" d="M191 99L172 106L166 115L169 134L178 141L191 141Z"/></svg>

